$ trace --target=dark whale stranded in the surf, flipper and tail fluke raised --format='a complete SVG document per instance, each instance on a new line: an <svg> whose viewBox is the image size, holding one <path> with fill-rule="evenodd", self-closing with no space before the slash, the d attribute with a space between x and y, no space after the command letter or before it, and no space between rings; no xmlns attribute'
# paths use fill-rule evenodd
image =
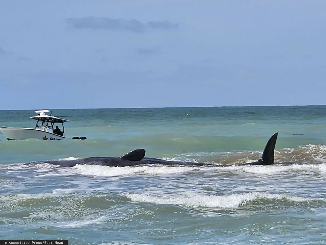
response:
<svg viewBox="0 0 326 245"><path fill-rule="evenodd" d="M267 141L264 151L261 157L250 163L238 164L238 165L271 165L274 164L274 151L278 133L272 135ZM230 165L218 165L210 163L198 163L198 162L186 162L186 161L167 161L159 158L145 157L145 149L136 149L130 151L120 157L107 157L107 156L93 156L87 158L80 158L74 160L50 160L50 161L37 161L30 163L50 163L53 165L59 165L61 167L74 167L77 164L83 165L101 165L110 167L127 167L137 165L187 165L187 166L230 166Z"/></svg>

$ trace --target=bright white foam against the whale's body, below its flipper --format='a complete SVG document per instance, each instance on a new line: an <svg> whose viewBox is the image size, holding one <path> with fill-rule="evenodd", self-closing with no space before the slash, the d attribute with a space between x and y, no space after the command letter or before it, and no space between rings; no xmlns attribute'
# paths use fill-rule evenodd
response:
<svg viewBox="0 0 326 245"><path fill-rule="evenodd" d="M96 176L129 176L136 174L159 175L178 174L199 170L200 167L176 166L135 166L135 167L109 167L99 165L76 165L73 167L80 174Z"/></svg>

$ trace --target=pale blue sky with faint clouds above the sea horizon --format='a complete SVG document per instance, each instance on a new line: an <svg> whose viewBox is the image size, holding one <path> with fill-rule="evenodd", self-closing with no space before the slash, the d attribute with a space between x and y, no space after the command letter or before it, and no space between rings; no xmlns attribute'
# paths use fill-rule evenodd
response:
<svg viewBox="0 0 326 245"><path fill-rule="evenodd" d="M0 110L326 104L324 0L0 6Z"/></svg>

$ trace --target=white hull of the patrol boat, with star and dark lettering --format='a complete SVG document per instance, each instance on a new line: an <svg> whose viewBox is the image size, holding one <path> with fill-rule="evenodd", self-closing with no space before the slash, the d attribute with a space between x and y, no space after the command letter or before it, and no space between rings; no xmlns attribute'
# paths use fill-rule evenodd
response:
<svg viewBox="0 0 326 245"><path fill-rule="evenodd" d="M7 140L15 139L42 139L42 140L61 140L67 139L65 136L53 134L50 128L10 128L3 127L0 131L6 136Z"/></svg>

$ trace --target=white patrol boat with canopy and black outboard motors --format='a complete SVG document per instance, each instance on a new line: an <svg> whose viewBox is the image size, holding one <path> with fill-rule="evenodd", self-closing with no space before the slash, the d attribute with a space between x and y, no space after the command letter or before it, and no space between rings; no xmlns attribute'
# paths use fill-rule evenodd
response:
<svg viewBox="0 0 326 245"><path fill-rule="evenodd" d="M69 122L66 119L61 119L50 116L45 113L50 110L36 110L37 116L30 117L36 120L35 128L23 128L23 127L1 127L0 131L6 136L7 140L23 140L23 139L42 139L42 140L61 140L67 139L65 137L64 123ZM62 129L55 124L61 124ZM73 139L86 139L86 137L73 137Z"/></svg>

